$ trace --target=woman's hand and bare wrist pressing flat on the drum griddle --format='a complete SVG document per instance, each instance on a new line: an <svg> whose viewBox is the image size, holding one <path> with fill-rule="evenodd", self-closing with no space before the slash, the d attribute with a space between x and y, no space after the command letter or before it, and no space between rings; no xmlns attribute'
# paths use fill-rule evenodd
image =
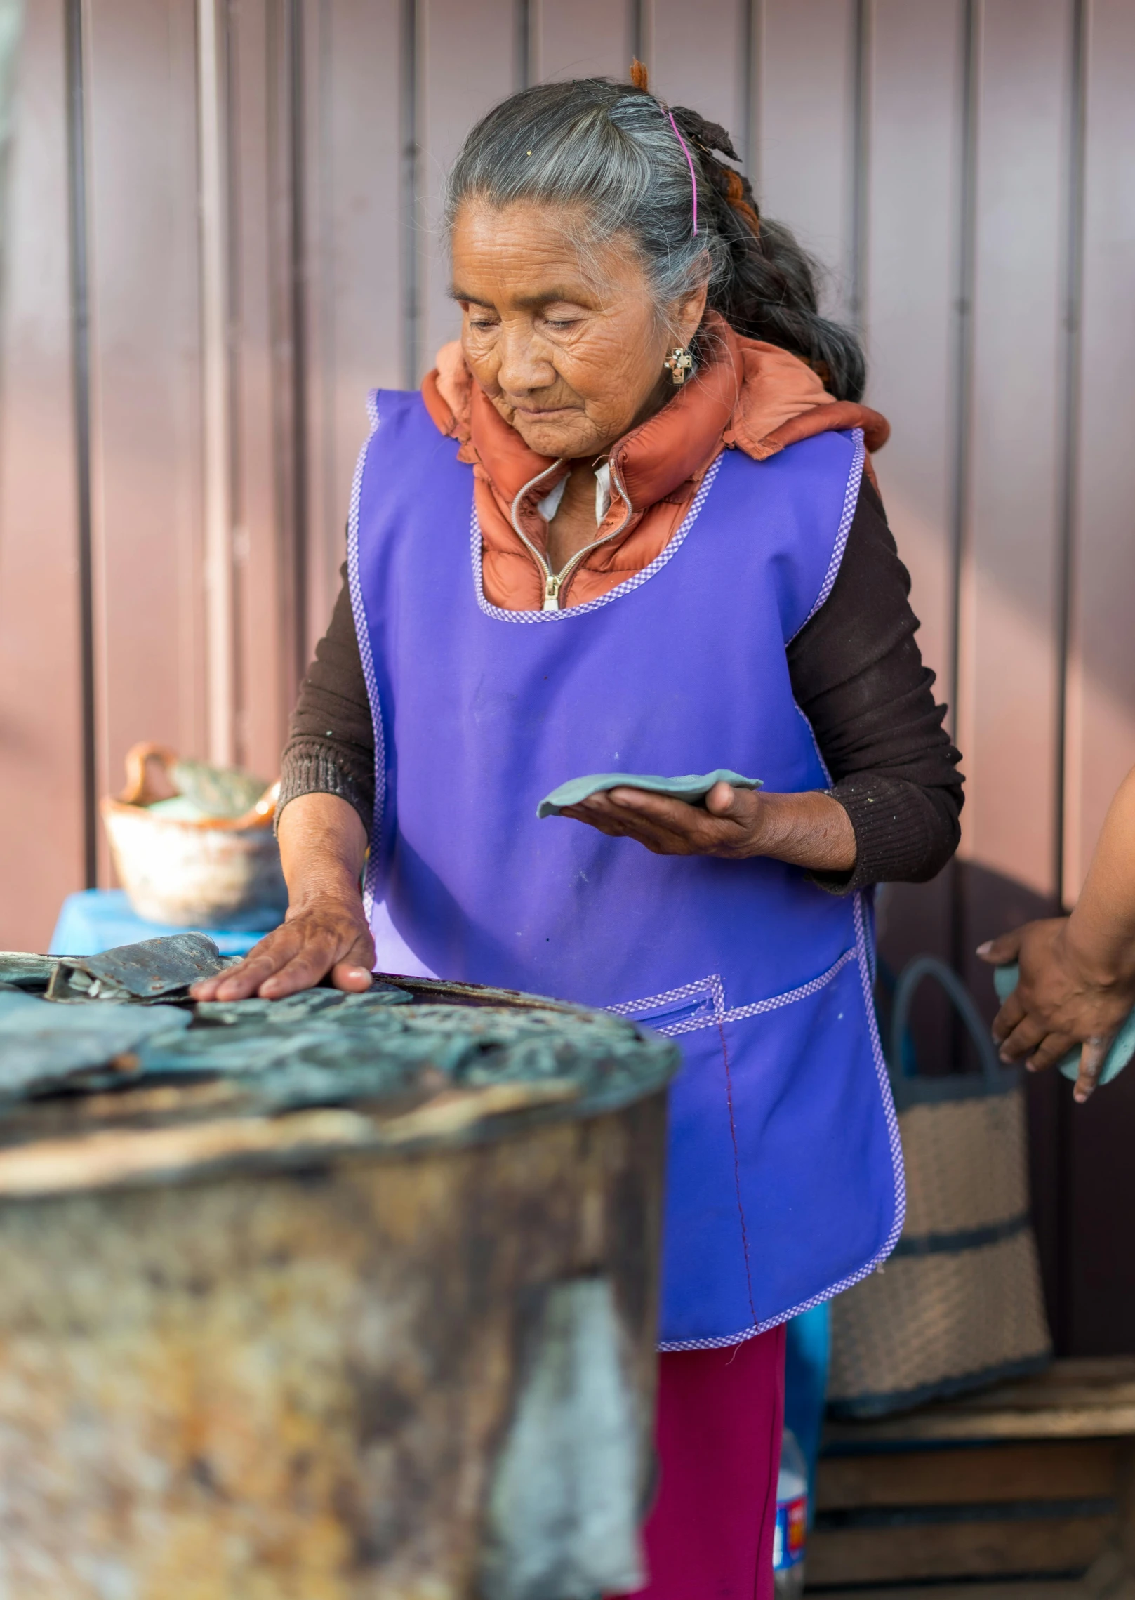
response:
<svg viewBox="0 0 1135 1600"><path fill-rule="evenodd" d="M283 1000L328 974L336 989L371 987L374 939L358 888L366 829L339 795L307 794L280 816L288 915L243 962L193 984L193 1000Z"/></svg>

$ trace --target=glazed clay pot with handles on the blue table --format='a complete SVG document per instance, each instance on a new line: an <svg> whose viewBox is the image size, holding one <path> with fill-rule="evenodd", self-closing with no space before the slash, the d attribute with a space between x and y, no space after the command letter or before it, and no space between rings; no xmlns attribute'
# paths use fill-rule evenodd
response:
<svg viewBox="0 0 1135 1600"><path fill-rule="evenodd" d="M176 754L136 744L126 787L102 800L115 872L134 912L181 928L273 928L288 909L272 819L278 782L238 818L189 821L149 811L177 792Z"/></svg>

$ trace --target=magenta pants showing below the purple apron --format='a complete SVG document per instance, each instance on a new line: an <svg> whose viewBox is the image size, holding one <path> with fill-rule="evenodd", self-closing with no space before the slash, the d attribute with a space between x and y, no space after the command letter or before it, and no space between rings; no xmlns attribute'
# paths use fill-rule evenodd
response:
<svg viewBox="0 0 1135 1600"><path fill-rule="evenodd" d="M641 1600L772 1600L785 1330L659 1358L660 1482Z"/></svg>

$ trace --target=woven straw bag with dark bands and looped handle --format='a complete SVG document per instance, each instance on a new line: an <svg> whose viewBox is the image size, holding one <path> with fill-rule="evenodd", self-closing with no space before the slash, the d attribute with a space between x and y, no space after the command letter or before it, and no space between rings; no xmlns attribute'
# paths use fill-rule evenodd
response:
<svg viewBox="0 0 1135 1600"><path fill-rule="evenodd" d="M935 978L980 1074L902 1077L914 989ZM886 1269L831 1304L828 1402L838 1416L902 1411L1034 1371L1052 1355L1029 1222L1025 1091L998 1062L954 973L919 957L895 989L890 1074L906 1165L906 1222Z"/></svg>

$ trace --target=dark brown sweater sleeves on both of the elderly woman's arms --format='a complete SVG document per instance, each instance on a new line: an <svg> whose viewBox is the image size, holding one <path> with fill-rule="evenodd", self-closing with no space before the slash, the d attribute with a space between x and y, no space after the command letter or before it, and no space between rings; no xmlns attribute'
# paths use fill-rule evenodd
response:
<svg viewBox="0 0 1135 1600"><path fill-rule="evenodd" d="M831 794L855 830L849 874L817 874L836 893L932 878L958 848L959 754L934 701L882 502L863 478L831 594L788 645L793 694L815 733ZM334 794L368 834L374 811L374 730L345 582L301 685L283 754L280 810L302 794Z"/></svg>

